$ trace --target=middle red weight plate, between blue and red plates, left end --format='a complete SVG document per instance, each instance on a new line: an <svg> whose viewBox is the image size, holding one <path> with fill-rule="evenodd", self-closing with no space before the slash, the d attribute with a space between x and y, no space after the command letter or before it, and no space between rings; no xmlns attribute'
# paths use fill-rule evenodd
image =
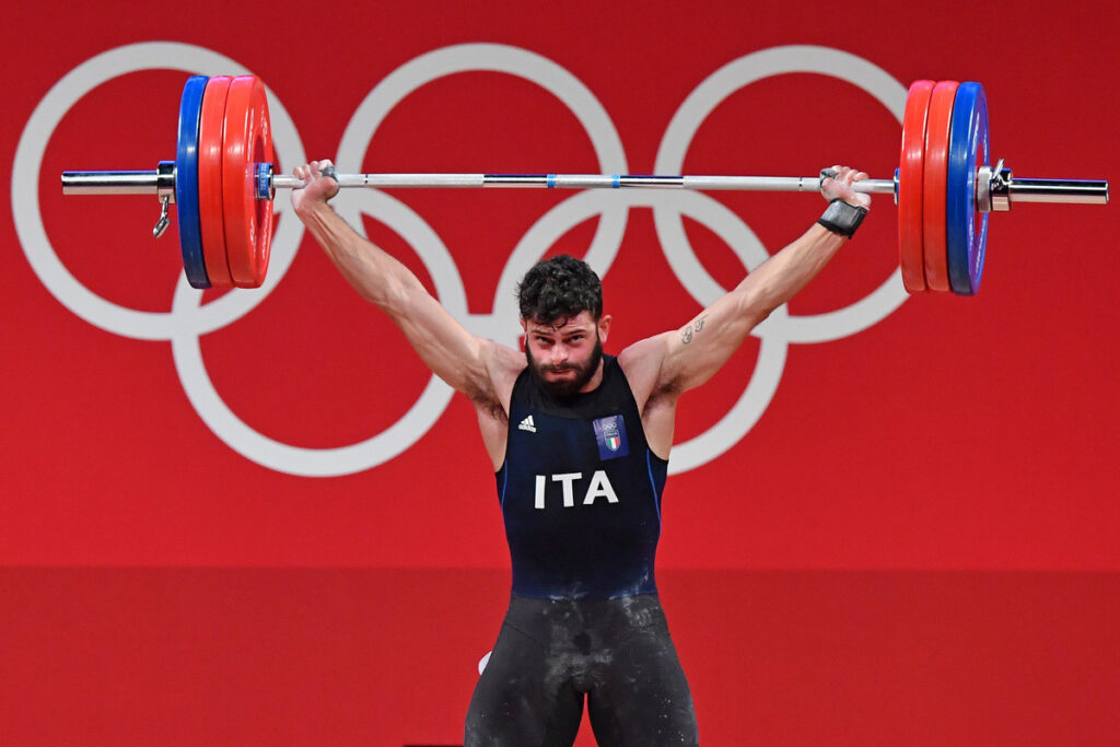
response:
<svg viewBox="0 0 1120 747"><path fill-rule="evenodd" d="M233 284L225 259L225 220L222 209L222 134L225 122L225 100L233 78L212 77L203 94L202 119L198 125L198 216L202 224L203 256L212 288Z"/></svg>

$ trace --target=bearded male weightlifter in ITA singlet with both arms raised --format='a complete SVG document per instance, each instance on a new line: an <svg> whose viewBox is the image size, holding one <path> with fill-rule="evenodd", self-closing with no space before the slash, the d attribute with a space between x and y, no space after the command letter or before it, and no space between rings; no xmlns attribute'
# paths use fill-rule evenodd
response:
<svg viewBox="0 0 1120 747"><path fill-rule="evenodd" d="M653 564L680 395L704 383L859 226L867 174L822 171L821 220L684 327L604 355L610 316L579 260L517 289L524 353L468 333L403 264L328 205L330 161L296 169L296 214L357 291L470 399L497 478L513 594L467 712L466 747L564 746L587 697L601 747L697 745Z"/></svg>

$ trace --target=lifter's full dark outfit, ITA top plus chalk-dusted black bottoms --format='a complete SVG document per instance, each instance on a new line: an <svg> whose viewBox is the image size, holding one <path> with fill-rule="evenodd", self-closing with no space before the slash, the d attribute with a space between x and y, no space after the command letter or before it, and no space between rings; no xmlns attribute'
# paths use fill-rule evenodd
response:
<svg viewBox="0 0 1120 747"><path fill-rule="evenodd" d="M497 473L513 595L475 687L465 747L694 747L696 712L653 577L668 463L618 362L592 392L513 387Z"/></svg>

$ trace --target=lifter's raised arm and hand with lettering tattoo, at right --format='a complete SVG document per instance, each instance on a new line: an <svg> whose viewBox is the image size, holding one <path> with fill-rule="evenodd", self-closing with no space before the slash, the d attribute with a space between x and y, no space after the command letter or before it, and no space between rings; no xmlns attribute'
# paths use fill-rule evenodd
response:
<svg viewBox="0 0 1120 747"><path fill-rule="evenodd" d="M870 197L855 192L862 171L836 167L822 194L867 207ZM711 379L743 344L750 330L788 301L816 277L848 240L814 223L809 231L749 273L735 290L719 298L684 327L641 340L623 351L626 371L638 405L663 395L675 396Z"/></svg>

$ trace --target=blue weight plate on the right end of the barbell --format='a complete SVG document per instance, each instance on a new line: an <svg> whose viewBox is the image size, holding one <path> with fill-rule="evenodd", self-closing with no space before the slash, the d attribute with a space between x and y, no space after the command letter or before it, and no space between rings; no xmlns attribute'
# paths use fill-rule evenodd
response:
<svg viewBox="0 0 1120 747"><path fill-rule="evenodd" d="M958 296L972 296L980 289L988 214L977 213L977 169L989 162L988 99L979 83L961 83L953 100L945 180L949 283Z"/></svg>

